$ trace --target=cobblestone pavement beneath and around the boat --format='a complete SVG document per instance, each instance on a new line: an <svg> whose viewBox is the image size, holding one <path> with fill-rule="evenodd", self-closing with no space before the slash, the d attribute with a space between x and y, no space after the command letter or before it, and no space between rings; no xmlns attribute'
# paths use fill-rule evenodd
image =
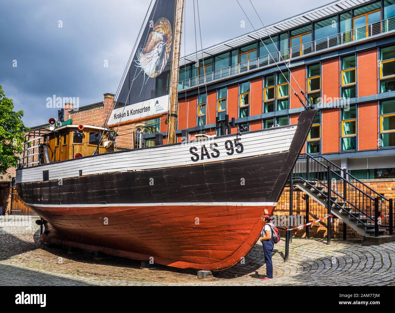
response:
<svg viewBox="0 0 395 313"><path fill-rule="evenodd" d="M0 285L395 285L395 243L361 246L359 241L293 239L284 262L284 241L273 254L274 278L262 281L261 244L244 264L214 272L201 281L195 270L158 266L139 269L140 262L120 257L95 261L91 252L68 254L38 242L35 218L0 219Z"/></svg>

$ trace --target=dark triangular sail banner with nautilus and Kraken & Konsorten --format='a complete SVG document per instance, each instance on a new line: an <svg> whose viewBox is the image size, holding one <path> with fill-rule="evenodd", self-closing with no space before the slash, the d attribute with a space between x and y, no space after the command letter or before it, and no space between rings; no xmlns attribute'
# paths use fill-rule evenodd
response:
<svg viewBox="0 0 395 313"><path fill-rule="evenodd" d="M109 124L169 110L175 0L156 0L136 46Z"/></svg>

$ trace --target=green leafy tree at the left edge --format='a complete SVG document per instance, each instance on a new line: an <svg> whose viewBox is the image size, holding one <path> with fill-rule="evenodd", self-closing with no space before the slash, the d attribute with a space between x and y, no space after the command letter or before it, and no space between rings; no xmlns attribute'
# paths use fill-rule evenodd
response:
<svg viewBox="0 0 395 313"><path fill-rule="evenodd" d="M12 99L6 98L0 85L0 174L17 167L23 152L24 135L29 128L22 122L23 110L14 112Z"/></svg>

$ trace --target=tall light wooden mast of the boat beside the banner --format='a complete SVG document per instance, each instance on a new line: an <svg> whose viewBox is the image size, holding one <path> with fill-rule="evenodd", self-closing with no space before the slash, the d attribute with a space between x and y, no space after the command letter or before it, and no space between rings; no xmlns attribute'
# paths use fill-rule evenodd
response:
<svg viewBox="0 0 395 313"><path fill-rule="evenodd" d="M180 67L180 53L181 53L181 33L182 33L182 13L184 11L184 0L176 1L175 12L175 26L174 26L174 48L171 68L170 81L170 109L168 113L169 133L167 135L167 143L172 144L177 142L176 126L178 113L178 80Z"/></svg>

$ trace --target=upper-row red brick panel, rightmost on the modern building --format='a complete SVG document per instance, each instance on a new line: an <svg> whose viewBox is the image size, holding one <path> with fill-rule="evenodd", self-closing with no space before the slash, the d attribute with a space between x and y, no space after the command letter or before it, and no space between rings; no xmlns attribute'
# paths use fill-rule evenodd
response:
<svg viewBox="0 0 395 313"><path fill-rule="evenodd" d="M377 94L377 49L358 53L358 96Z"/></svg>

